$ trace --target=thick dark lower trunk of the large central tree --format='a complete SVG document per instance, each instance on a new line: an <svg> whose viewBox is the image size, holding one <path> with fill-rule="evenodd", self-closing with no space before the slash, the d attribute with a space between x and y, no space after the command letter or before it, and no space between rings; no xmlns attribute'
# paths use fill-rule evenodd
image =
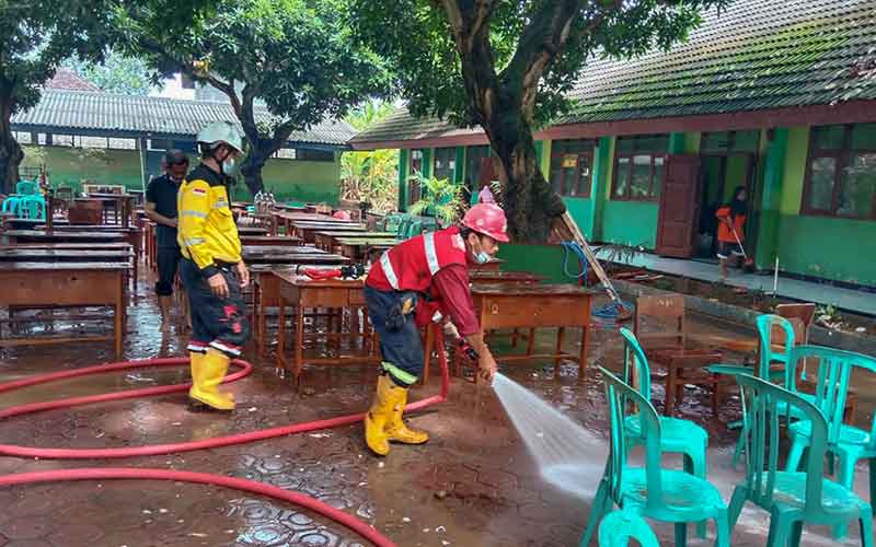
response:
<svg viewBox="0 0 876 547"><path fill-rule="evenodd" d="M563 214L566 206L541 173L531 127L519 107L506 107L484 124L484 130L499 160L502 203L511 240L544 243L553 219Z"/></svg>

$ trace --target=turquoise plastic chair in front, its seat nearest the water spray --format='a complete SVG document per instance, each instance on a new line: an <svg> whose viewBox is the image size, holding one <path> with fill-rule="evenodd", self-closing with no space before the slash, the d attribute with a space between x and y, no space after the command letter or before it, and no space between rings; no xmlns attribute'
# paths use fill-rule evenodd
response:
<svg viewBox="0 0 876 547"><path fill-rule="evenodd" d="M660 467L662 428L657 410L647 397L625 382L601 366L599 370L604 381L609 406L611 443L606 473L599 481L580 547L589 545L599 522L615 503L626 512L675 523L676 545L679 547L687 545L688 523L714 519L717 526L715 545L729 547L728 512L721 492L707 480L690 473ZM643 432L644 468L626 465L629 433L625 424L631 416L626 414L631 403L637 407L637 414L632 416L635 416L639 422L639 431Z"/></svg>

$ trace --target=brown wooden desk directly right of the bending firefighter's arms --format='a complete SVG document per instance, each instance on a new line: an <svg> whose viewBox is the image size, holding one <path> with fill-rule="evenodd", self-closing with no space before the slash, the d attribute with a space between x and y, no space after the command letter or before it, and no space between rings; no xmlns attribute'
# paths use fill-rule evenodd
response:
<svg viewBox="0 0 876 547"><path fill-rule="evenodd" d="M533 353L534 337L530 337L529 348L525 354L500 356L497 357L497 361L552 358L556 374L562 359L573 359L578 361L579 376L584 375L587 366L591 290L574 284L474 283L472 298L484 333L497 329L558 327L554 353ZM565 329L568 327L581 329L581 347L577 356L563 352ZM456 358L458 373L460 365L461 356L458 353Z"/></svg>

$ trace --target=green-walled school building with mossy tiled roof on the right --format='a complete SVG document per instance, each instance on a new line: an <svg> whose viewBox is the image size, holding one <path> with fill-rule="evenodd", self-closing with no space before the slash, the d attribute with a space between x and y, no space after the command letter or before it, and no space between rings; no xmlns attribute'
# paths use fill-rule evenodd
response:
<svg viewBox="0 0 876 547"><path fill-rule="evenodd" d="M748 189L761 269L876 287L876 1L737 0L690 39L588 63L572 110L537 131L541 168L595 242L714 256L716 207ZM471 189L492 178L480 128L395 113L356 150Z"/></svg>

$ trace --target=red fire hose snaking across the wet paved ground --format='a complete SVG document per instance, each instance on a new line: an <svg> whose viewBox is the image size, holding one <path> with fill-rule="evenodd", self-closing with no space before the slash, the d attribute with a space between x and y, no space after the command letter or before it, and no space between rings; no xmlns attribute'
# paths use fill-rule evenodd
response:
<svg viewBox="0 0 876 547"><path fill-rule="evenodd" d="M447 356L443 351L443 333L436 329L435 337L436 347L438 350L439 363L441 366L441 392L439 395L428 397L407 405L407 411L419 410L428 406L443 403L447 400L447 395L450 391L450 373L447 365ZM173 358L173 359L150 359L142 361L129 361L111 363L99 366L89 366L87 369L79 369L74 371L56 372L49 374L39 374L30 379L20 380L15 382L8 382L0 384L0 393L20 389L26 386L46 384L56 382L58 380L67 380L72 377L80 377L91 374L101 374L105 372L117 372L129 369L142 369L148 366L172 366L186 364L188 359ZM245 361L234 360L232 364L239 366L241 370L230 374L226 377L224 382L233 382L246 376L252 372L252 365ZM142 389L128 389L124 392L91 395L83 397L71 397L67 399L59 399L46 403L34 403L28 405L20 405L7 408L0 411L0 419L11 418L13 416L21 416L26 414L39 412L43 410L69 408L73 406L88 405L92 403L105 403L111 400L122 400L134 397L145 397L152 395L164 395L169 393L177 393L187 391L189 384L174 384L159 387L147 387ZM161 454L171 454L180 452L189 452L201 449L215 449L218 446L229 446L233 444L245 444L255 441L263 441L266 439L275 439L278 437L286 437L293 433L303 433L319 429L336 428L341 426L348 426L351 423L360 422L362 414L341 416L327 420L316 420L302 423L293 423L289 426L281 426L261 431L251 431L249 433L240 433L234 435L218 437L215 439L206 439L203 441L192 441L186 443L174 444L154 444L146 446L131 446L124 449L38 449L34 446L19 446L12 444L0 444L0 456L16 456L16 457L35 457L44 459L90 459L90 458L125 458L135 456L154 456ZM50 481L71 481L71 480L108 480L108 479L151 479L151 480L176 480L184 482L197 482L205 485L216 485L238 490L244 490L257 494L268 496L278 500L288 501L299 504L307 509L311 509L335 522L344 524L362 537L369 539L379 547L394 547L395 544L390 539L378 533L370 525L350 516L349 514L339 511L331 505L326 505L318 500L308 496L290 492L280 488L255 482L251 480L235 479L221 475L209 475L200 473L188 472L174 472L168 469L143 469L143 468L81 468L81 469L58 469L51 472L36 472L36 473L22 473L15 475L0 476L0 488L13 485L30 485L37 482Z"/></svg>

